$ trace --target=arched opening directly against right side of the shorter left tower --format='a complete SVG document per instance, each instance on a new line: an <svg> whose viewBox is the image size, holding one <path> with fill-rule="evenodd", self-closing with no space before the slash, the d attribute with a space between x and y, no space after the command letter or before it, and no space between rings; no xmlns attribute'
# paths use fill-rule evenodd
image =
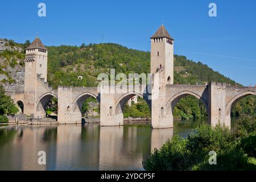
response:
<svg viewBox="0 0 256 182"><path fill-rule="evenodd" d="M52 93L46 93L36 102L36 117L57 119L57 97Z"/></svg>

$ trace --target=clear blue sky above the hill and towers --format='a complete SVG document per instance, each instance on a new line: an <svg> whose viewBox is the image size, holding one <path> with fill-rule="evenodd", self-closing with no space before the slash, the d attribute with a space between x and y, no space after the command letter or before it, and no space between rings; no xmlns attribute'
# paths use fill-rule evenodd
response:
<svg viewBox="0 0 256 182"><path fill-rule="evenodd" d="M46 17L38 16L40 2ZM211 2L217 17L208 15ZM149 38L163 21L176 54L243 85L256 84L255 0L1 0L0 17L0 38L20 43L38 32L46 46L112 42L143 51L150 51Z"/></svg>

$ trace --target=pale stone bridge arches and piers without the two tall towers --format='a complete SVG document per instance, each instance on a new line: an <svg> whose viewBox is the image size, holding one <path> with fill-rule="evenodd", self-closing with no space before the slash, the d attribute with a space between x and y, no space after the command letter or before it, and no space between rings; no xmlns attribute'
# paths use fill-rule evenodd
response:
<svg viewBox="0 0 256 182"><path fill-rule="evenodd" d="M230 127L230 113L233 106L242 98L256 96L255 87L228 86L225 83L210 82L208 85L175 85L168 84L159 88L159 96L151 100L147 85L127 86L126 92L118 93L112 87L106 90L97 87L67 87L59 86L53 90L47 82L38 77L38 90L33 118L46 117L46 103L52 97L58 100L57 122L81 123L82 103L93 97L100 103L101 126L123 125L123 106L133 97L143 98L151 109L151 125L153 128L173 127L173 115L177 102L185 96L198 98L208 111L208 122L216 125L218 122ZM9 93L16 103L24 101L24 93ZM26 109L25 109L26 110Z"/></svg>

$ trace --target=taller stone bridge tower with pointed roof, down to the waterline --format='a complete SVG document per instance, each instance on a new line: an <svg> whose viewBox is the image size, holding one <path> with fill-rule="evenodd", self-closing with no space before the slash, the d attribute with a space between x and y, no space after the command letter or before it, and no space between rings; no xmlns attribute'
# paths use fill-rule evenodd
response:
<svg viewBox="0 0 256 182"><path fill-rule="evenodd" d="M159 89L156 93L158 96L155 95L151 101L151 123L153 128L172 127L172 114L168 114L165 104L167 102L167 85L174 84L174 39L163 24L150 39L150 72L152 80L154 80L152 90ZM158 77L157 81L156 77ZM159 85L155 84L156 82Z"/></svg>

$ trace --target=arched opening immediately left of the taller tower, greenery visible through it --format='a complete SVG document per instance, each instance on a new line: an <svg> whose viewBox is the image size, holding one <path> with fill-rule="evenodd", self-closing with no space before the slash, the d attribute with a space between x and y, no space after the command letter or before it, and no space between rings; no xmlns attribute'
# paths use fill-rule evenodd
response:
<svg viewBox="0 0 256 182"><path fill-rule="evenodd" d="M124 122L127 120L149 121L151 118L151 104L147 96L135 92L121 96L115 106L115 115L121 115Z"/></svg>

